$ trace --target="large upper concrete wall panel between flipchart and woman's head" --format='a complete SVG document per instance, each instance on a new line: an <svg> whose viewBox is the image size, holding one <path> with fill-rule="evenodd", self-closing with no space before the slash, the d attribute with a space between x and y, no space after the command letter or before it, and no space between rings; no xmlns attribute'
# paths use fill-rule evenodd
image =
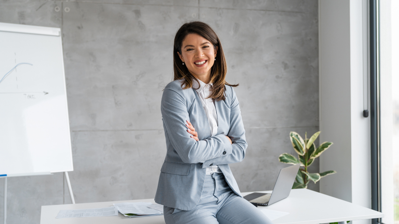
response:
<svg viewBox="0 0 399 224"><path fill-rule="evenodd" d="M197 8L63 5L70 8L63 45L71 130L162 129L174 34Z"/></svg>

